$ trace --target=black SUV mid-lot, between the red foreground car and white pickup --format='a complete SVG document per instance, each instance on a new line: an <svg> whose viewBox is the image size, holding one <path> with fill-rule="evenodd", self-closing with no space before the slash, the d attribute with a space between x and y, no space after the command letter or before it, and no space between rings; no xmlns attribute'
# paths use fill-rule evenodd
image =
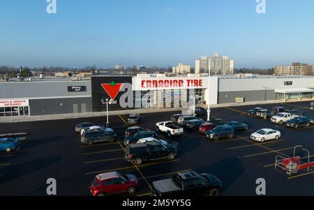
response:
<svg viewBox="0 0 314 210"><path fill-rule="evenodd" d="M177 156L177 144L161 144L160 142L145 142L128 144L124 157L128 162L141 165L147 160L169 159Z"/></svg>

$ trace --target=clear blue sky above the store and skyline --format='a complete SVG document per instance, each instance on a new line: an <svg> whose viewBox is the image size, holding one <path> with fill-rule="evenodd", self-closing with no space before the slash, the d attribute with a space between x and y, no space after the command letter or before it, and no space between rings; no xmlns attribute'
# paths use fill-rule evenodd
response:
<svg viewBox="0 0 314 210"><path fill-rule="evenodd" d="M314 1L0 1L0 66L195 66L214 52L236 68L314 64Z"/></svg>

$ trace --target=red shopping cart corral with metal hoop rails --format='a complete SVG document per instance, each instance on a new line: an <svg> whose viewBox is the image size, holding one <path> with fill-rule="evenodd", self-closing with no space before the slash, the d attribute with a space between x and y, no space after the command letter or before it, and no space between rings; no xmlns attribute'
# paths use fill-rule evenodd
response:
<svg viewBox="0 0 314 210"><path fill-rule="evenodd" d="M306 151L308 156L296 156L297 149L301 149L302 151ZM291 174L298 174L301 172L309 172L314 167L314 162L310 162L310 152L307 149L304 149L303 146L298 145L294 147L293 156L292 157L283 157L276 156L275 170L280 170L281 172L285 172L289 176ZM302 160L306 160L302 161Z"/></svg>

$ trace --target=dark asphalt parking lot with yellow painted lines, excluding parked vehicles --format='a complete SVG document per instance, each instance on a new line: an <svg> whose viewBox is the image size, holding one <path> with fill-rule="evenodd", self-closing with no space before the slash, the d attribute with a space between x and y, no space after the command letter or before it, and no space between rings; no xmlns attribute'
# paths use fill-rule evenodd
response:
<svg viewBox="0 0 314 210"><path fill-rule="evenodd" d="M309 102L260 105L302 110L313 117ZM256 105L255 105L256 106ZM80 143L74 126L84 121L105 124L105 117L66 119L29 123L2 123L0 134L27 132L22 149L0 153L0 195L46 195L46 180L57 180L58 195L91 195L89 186L96 174L118 171L135 174L140 179L136 195L151 195L151 182L171 177L177 172L195 170L216 175L223 181L223 195L256 195L258 178L266 180L267 195L314 195L314 170L292 174L274 169L276 156L290 157L297 145L304 146L314 161L314 125L308 128L286 128L269 120L250 117L246 111L255 107L225 107L211 111L211 120L218 125L227 121L246 123L250 128L237 132L234 139L218 142L195 131L185 130L180 137L158 138L178 142L179 155L174 160L158 160L140 166L124 160L124 131L128 128L126 116L110 117L110 127L118 135L118 142L87 146ZM156 122L168 121L172 114L163 112L142 114L140 126L155 129ZM280 130L279 140L257 143L251 133L261 128ZM305 162L307 154L297 150Z"/></svg>

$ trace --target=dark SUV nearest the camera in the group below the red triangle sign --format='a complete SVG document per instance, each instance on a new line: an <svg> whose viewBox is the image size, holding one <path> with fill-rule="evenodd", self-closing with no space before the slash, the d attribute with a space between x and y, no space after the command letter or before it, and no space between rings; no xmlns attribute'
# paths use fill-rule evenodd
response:
<svg viewBox="0 0 314 210"><path fill-rule="evenodd" d="M115 140L117 140L117 134L105 130L91 131L82 133L81 135L81 142L87 145L94 144L95 142L114 142Z"/></svg>

